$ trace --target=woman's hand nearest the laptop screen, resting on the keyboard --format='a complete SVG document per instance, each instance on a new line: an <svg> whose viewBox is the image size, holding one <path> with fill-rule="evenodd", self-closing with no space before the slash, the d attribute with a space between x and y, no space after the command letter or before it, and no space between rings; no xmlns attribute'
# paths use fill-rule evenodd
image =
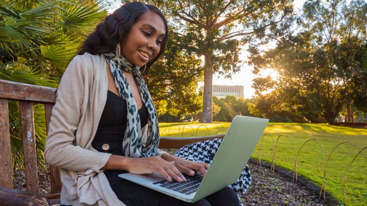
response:
<svg viewBox="0 0 367 206"><path fill-rule="evenodd" d="M207 173L209 164L201 162L193 162L187 159L176 157L168 153L164 153L161 156L163 159L174 162L175 166L182 172L189 176L194 176L195 171L200 171L203 175Z"/></svg>

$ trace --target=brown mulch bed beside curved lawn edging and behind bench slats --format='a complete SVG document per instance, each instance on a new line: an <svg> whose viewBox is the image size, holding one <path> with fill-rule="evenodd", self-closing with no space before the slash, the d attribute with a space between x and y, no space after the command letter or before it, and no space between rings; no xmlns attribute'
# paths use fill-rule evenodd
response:
<svg viewBox="0 0 367 206"><path fill-rule="evenodd" d="M247 193L240 194L245 206L326 206L317 194L302 185L293 182L270 168L248 162L252 183ZM48 166L46 166L48 168ZM24 171L14 172L14 189L25 190ZM39 193L44 195L51 191L48 172L40 173Z"/></svg>

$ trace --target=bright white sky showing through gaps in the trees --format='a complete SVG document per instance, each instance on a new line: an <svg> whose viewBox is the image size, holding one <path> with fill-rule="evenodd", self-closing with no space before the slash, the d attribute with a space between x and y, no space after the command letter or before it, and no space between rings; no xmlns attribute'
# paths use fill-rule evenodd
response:
<svg viewBox="0 0 367 206"><path fill-rule="evenodd" d="M303 3L305 0L294 0L294 10L297 11L298 9L302 8ZM109 8L109 12L113 12L115 9L120 7L121 3L119 1L114 1L112 5ZM271 48L272 46L268 46L268 48ZM242 51L242 55L240 56L240 60L246 61L247 59L247 53L245 50ZM261 73L262 75L266 76L268 74L270 75L276 75L275 73L271 71L265 71ZM244 86L244 98L251 98L254 96L254 89L251 88L252 85L252 79L254 78L254 75L252 74L252 68L246 64L242 64L241 70L235 74L232 75L231 79L220 77L217 75L213 76L213 84L216 85L243 85ZM199 82L199 87L204 85L204 82Z"/></svg>

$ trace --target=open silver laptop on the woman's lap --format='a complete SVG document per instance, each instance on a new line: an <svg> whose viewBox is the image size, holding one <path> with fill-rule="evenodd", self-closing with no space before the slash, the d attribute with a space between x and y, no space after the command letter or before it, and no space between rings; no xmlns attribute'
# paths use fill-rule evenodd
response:
<svg viewBox="0 0 367 206"><path fill-rule="evenodd" d="M236 182L241 175L268 119L237 115L228 129L207 174L197 173L186 182L168 182L158 173L137 175L123 173L119 177L151 188L185 202L194 203ZM190 182L190 183L189 183Z"/></svg>

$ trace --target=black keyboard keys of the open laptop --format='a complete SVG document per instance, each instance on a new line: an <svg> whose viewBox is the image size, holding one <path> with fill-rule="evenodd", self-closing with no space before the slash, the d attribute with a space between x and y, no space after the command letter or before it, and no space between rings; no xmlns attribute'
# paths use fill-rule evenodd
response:
<svg viewBox="0 0 367 206"><path fill-rule="evenodd" d="M184 174L184 177L186 178L186 182L177 182L175 180L168 182L167 180L161 180L154 182L153 184L185 195L190 195L198 190L200 183L204 178L201 173L196 173L194 176Z"/></svg>

